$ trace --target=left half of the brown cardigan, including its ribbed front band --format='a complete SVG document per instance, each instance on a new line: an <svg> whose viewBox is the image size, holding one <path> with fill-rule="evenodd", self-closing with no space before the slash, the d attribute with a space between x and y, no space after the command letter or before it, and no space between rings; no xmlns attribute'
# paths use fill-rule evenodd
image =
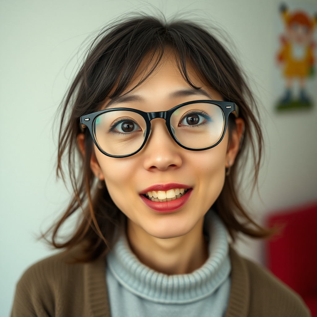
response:
<svg viewBox="0 0 317 317"><path fill-rule="evenodd" d="M104 259L74 263L73 255L31 266L17 283L11 317L110 316Z"/></svg>

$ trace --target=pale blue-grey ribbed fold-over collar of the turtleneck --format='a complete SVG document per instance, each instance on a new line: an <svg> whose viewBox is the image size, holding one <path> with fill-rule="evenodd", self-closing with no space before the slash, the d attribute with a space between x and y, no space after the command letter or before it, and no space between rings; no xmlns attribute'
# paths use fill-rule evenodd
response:
<svg viewBox="0 0 317 317"><path fill-rule="evenodd" d="M190 303L212 294L230 274L226 229L213 212L205 218L209 257L191 274L166 275L142 264L121 236L107 256L108 267L119 283L133 294L160 303Z"/></svg>

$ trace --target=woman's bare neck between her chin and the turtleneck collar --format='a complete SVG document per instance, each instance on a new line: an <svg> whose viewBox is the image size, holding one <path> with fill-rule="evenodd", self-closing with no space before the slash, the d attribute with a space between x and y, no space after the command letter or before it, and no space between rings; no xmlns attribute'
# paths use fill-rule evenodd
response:
<svg viewBox="0 0 317 317"><path fill-rule="evenodd" d="M208 258L203 224L204 218L184 236L160 239L128 220L127 237L133 253L143 264L168 275L187 274L200 268Z"/></svg>

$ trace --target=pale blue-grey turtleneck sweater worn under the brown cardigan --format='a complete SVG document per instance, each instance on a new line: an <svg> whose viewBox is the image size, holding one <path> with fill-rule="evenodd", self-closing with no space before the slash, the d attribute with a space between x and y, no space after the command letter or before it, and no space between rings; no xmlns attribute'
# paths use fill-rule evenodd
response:
<svg viewBox="0 0 317 317"><path fill-rule="evenodd" d="M112 317L222 317L230 293L227 233L209 211L209 257L190 274L166 275L142 264L121 236L107 256L107 288Z"/></svg>

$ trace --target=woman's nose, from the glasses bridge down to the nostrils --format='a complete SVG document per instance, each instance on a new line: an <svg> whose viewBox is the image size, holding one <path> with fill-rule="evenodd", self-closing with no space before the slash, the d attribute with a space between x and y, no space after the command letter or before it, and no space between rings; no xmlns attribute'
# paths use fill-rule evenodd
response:
<svg viewBox="0 0 317 317"><path fill-rule="evenodd" d="M164 119L151 120L151 134L144 150L144 168L166 171L182 165L181 147L171 138Z"/></svg>

